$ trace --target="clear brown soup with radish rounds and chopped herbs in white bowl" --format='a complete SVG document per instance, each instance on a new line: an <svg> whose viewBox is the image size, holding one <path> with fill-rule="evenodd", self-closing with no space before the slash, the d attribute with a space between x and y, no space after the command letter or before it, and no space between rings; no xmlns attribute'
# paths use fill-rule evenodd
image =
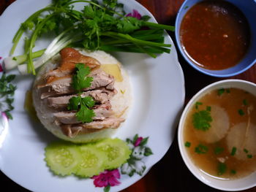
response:
<svg viewBox="0 0 256 192"><path fill-rule="evenodd" d="M221 179L256 171L256 97L238 88L200 98L188 112L184 145L200 170Z"/></svg>

